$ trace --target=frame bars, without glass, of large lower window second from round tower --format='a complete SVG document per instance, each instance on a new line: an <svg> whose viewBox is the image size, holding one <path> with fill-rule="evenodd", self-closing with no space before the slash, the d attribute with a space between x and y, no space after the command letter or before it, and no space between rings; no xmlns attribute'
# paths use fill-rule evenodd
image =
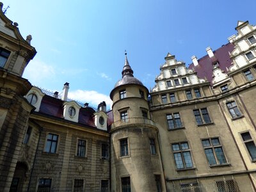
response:
<svg viewBox="0 0 256 192"><path fill-rule="evenodd" d="M209 146L204 146L204 143L203 143L203 141L206 141L206 140L208 140L209 141ZM213 144L213 142L212 142L212 140L218 140L218 145L214 145ZM203 149L204 149L204 154L205 154L205 159L207 160L207 163L208 163L208 165L210 166L210 167L212 167L212 166L225 166L225 165L227 165L227 164L229 164L228 163L228 159L227 159L227 156L226 156L226 154L225 154L225 150L223 149L223 145L222 145L222 143L221 143L221 141L220 141L220 137L212 137L212 138L203 138L203 139L201 139L201 143L202 143L202 147L203 147ZM221 148L221 151L222 151L222 154L223 154L223 157L225 157L225 162L224 163L221 163L220 162L220 156L218 156L218 155L216 155L217 154L217 152L216 152L216 148ZM205 150L209 150L209 149L211 149L211 152L212 152L212 154L213 154L213 157L214 157L214 160L215 160L215 164L211 164L210 163L210 159L208 158L208 156L207 156L207 152L205 151ZM211 156L212 157L212 156Z"/></svg>

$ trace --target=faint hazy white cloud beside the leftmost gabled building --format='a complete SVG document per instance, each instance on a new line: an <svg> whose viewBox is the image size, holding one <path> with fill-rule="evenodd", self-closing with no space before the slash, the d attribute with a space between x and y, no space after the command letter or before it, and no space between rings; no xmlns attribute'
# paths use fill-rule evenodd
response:
<svg viewBox="0 0 256 192"><path fill-rule="evenodd" d="M33 84L40 84L44 79L52 79L56 74L54 67L40 60L29 62L24 72L24 78Z"/></svg>

